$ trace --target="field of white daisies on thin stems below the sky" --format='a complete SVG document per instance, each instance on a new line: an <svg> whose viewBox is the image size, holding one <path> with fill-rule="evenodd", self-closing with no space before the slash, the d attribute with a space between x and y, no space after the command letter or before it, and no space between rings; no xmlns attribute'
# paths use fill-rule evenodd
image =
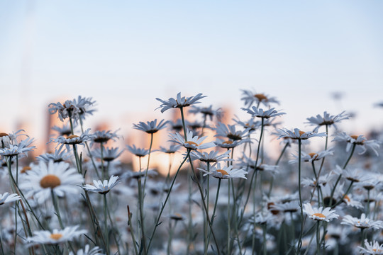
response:
<svg viewBox="0 0 383 255"><path fill-rule="evenodd" d="M33 137L0 130L0 255L383 254L379 136L340 130L347 112L289 130L276 98L242 93L247 118L228 123L202 94L156 98L158 120L133 125L145 148L84 126L82 96L47 107L54 152L32 158Z"/></svg>

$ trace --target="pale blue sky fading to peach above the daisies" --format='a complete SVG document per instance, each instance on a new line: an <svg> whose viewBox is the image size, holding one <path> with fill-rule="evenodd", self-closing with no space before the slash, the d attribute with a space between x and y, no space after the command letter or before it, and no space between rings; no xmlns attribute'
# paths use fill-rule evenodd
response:
<svg viewBox="0 0 383 255"><path fill-rule="evenodd" d="M356 113L383 127L383 1L0 1L0 128L42 137L48 104L93 97L114 129L169 118L155 98L207 97L240 110L241 89L275 96L285 128ZM342 92L341 101L331 93ZM43 128L42 128L43 127Z"/></svg>

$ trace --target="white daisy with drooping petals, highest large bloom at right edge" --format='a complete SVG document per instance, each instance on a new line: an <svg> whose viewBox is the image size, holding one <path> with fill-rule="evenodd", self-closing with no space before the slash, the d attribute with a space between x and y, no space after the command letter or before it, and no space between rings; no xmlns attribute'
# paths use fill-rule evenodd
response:
<svg viewBox="0 0 383 255"><path fill-rule="evenodd" d="M380 142L375 140L367 140L366 137L363 135L347 135L345 132L340 132L335 135L335 138L333 139L335 142L347 142L346 146L346 152L348 152L351 147L354 145L357 146L357 148L360 148L361 152L359 154L363 154L367 151L367 148L372 149L377 156L379 156L379 153L377 152L377 149L380 147Z"/></svg>

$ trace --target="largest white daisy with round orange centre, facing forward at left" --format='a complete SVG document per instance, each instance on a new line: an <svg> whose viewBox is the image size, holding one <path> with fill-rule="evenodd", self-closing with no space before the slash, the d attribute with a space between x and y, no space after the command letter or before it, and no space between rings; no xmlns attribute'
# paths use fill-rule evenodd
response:
<svg viewBox="0 0 383 255"><path fill-rule="evenodd" d="M50 197L53 191L57 196L62 197L69 193L78 193L77 185L83 181L82 175L65 162L48 164L40 161L38 166L24 175L20 188L28 191L27 196L33 196L38 203L43 203Z"/></svg>

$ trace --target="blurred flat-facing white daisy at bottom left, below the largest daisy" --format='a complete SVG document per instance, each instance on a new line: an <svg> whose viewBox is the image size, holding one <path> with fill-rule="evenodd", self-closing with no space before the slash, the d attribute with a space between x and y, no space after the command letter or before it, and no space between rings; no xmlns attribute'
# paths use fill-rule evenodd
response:
<svg viewBox="0 0 383 255"><path fill-rule="evenodd" d="M60 244L63 242L72 241L74 238L87 233L86 230L77 230L79 226L65 227L65 229L41 230L33 232L33 237L28 237L26 243L28 245L35 244Z"/></svg>

